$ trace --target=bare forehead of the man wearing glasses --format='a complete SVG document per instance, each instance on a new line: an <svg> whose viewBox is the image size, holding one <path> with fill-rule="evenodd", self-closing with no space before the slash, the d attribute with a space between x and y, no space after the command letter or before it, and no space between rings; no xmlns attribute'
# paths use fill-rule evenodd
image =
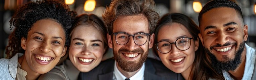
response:
<svg viewBox="0 0 256 80"><path fill-rule="evenodd" d="M135 34L137 32L149 33L148 20L142 14L118 16L113 23L113 32L126 32L128 34Z"/></svg>

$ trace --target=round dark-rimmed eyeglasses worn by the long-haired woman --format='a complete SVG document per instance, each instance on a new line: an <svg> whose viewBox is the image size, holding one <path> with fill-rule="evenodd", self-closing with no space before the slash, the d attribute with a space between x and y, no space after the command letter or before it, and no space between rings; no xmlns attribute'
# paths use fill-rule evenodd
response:
<svg viewBox="0 0 256 80"><path fill-rule="evenodd" d="M179 50L185 51L190 47L191 44L191 39L189 37L181 37L179 39L177 39L175 42L168 42L168 41L160 41L158 43L156 43L156 47L157 50L161 53L169 53L172 49L172 44L175 44L176 48L178 48Z"/></svg>

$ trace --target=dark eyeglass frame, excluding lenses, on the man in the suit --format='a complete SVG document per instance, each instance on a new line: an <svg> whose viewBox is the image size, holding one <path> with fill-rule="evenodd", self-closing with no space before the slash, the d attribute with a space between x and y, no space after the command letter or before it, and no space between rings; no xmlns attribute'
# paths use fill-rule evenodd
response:
<svg viewBox="0 0 256 80"><path fill-rule="evenodd" d="M115 33L112 33L112 35L113 35L113 34L115 35L115 40L116 40L116 42L117 42L116 36L117 36L118 33L125 33L125 34L127 34L127 35L129 36L129 37L128 37L128 41L127 41L125 44L127 44L127 43L130 41L130 36L132 36L133 41L134 41L134 35L136 35L136 34L138 34L138 33L143 33L143 34L145 34L145 35L147 36L147 39L148 39L148 36L150 36L150 33L144 33L144 32L137 32L137 33L135 33L135 34L133 34L133 35L129 35L129 34L126 33L126 32L115 32ZM134 41L134 43L135 43L136 45L138 45L135 41ZM147 41L146 41L144 44L146 44L146 43L147 43ZM119 44L119 43L117 42L117 44ZM125 45L125 44L119 44L119 45ZM142 45L144 45L144 44L142 44ZM142 46L142 45L139 45L139 46Z"/></svg>

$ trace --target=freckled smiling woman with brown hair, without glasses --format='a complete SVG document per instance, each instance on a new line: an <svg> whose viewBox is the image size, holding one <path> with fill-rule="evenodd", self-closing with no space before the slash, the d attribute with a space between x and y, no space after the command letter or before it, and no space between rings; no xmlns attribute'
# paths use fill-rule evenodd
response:
<svg viewBox="0 0 256 80"><path fill-rule="evenodd" d="M39 79L77 80L80 72L94 69L108 50L107 33L104 22L96 15L77 16L70 30L70 47L66 53L69 58Z"/></svg>

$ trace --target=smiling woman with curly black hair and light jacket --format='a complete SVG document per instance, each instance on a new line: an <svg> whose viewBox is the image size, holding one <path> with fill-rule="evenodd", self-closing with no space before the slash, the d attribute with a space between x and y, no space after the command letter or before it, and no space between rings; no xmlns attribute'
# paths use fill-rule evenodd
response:
<svg viewBox="0 0 256 80"><path fill-rule="evenodd" d="M0 79L35 80L49 72L66 53L74 17L59 1L41 0L19 7L10 20L10 28L15 27L6 47L10 59L0 59Z"/></svg>

